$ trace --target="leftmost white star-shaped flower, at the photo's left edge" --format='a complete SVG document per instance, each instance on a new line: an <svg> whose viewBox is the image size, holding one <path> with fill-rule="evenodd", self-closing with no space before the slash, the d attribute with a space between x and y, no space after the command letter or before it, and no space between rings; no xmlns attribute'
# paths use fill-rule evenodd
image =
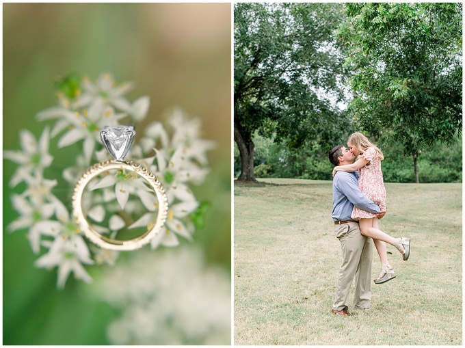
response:
<svg viewBox="0 0 465 348"><path fill-rule="evenodd" d="M21 165L16 174L12 176L10 184L18 185L24 180L25 174L40 172L44 168L49 167L53 161L53 157L49 154L50 134L49 128L45 127L40 139L37 142L34 135L26 129L19 132L22 151L5 150L3 157L10 159Z"/></svg>

